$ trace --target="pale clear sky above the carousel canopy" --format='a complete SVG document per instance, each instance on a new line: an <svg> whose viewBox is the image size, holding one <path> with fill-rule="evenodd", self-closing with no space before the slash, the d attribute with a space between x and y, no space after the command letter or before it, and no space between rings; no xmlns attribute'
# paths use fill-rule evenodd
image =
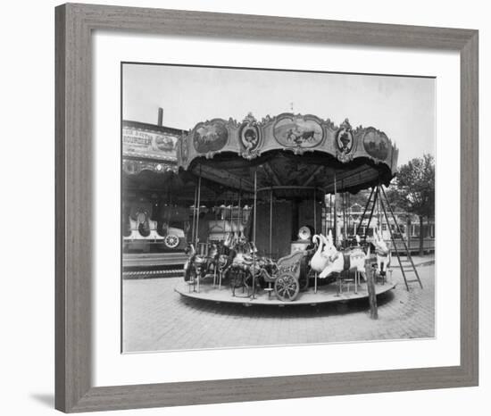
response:
<svg viewBox="0 0 491 416"><path fill-rule="evenodd" d="M193 129L200 121L314 114L375 127L399 147L398 164L435 155L435 79L124 64L123 119Z"/></svg>

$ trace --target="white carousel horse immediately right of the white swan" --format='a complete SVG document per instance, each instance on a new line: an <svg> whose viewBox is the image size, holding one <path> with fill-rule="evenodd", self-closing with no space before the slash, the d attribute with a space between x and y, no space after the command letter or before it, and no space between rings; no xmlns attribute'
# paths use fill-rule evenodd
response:
<svg viewBox="0 0 491 416"><path fill-rule="evenodd" d="M356 239L358 243L360 243L359 238L360 237ZM343 252L339 252L336 245L334 245L330 229L326 241L327 244L324 245L322 255L327 257L329 262L324 270L320 272L320 279L325 279L332 273L340 273L343 270L356 270L362 275L362 278L366 280L365 259L370 255L370 251L368 254L364 254L362 247L358 245Z"/></svg>

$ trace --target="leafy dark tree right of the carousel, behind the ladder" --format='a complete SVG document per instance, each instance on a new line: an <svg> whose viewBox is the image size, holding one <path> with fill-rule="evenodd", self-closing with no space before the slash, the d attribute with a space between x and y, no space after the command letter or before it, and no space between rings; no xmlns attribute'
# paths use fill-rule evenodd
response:
<svg viewBox="0 0 491 416"><path fill-rule="evenodd" d="M388 195L387 195L388 197ZM420 220L420 254L423 254L423 222L435 216L435 159L430 154L414 158L399 168L390 199Z"/></svg>

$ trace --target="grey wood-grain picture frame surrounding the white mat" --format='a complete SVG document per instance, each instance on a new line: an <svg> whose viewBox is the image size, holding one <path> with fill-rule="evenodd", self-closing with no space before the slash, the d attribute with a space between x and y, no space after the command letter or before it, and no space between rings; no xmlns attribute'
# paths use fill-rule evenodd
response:
<svg viewBox="0 0 491 416"><path fill-rule="evenodd" d="M461 56L461 364L94 387L91 241L93 188L97 179L92 173L91 36L96 29L458 51ZM477 30L63 4L55 9L55 31L57 409L89 412L478 385Z"/></svg>

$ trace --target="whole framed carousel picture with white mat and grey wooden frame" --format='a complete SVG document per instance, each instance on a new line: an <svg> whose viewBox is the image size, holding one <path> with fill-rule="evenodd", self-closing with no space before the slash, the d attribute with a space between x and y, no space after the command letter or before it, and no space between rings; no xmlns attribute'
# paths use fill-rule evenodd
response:
<svg viewBox="0 0 491 416"><path fill-rule="evenodd" d="M478 384L477 30L55 17L57 409Z"/></svg>

